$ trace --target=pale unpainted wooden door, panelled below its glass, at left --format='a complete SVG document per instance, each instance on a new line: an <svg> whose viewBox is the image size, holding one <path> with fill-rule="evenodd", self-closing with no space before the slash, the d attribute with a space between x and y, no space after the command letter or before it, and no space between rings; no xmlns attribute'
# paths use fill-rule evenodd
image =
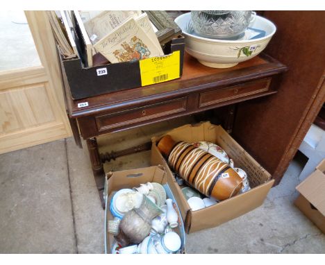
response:
<svg viewBox="0 0 325 265"><path fill-rule="evenodd" d="M44 11L26 11L42 62L0 72L0 153L69 137L56 45Z"/></svg>

